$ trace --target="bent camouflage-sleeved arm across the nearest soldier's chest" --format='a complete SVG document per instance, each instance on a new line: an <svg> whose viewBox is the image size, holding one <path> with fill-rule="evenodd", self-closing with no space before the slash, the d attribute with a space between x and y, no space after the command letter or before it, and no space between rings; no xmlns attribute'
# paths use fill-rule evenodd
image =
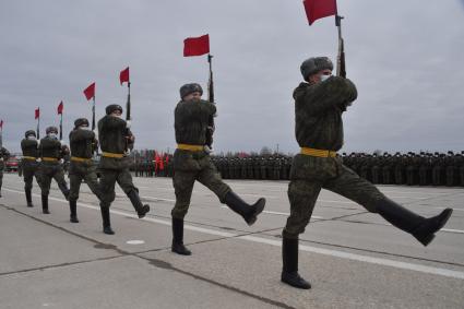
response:
<svg viewBox="0 0 464 309"><path fill-rule="evenodd" d="M338 76L331 76L322 83L308 87L301 99L310 103L307 106L311 114L320 114L328 108L340 107L342 104L348 105L358 96L355 84Z"/></svg>

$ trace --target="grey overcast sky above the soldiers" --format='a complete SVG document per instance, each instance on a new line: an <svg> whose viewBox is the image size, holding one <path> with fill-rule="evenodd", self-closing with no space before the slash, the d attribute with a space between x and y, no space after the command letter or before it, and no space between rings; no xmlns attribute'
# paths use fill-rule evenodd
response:
<svg viewBox="0 0 464 309"><path fill-rule="evenodd" d="M344 115L343 151L461 151L464 1L338 0L347 75L358 99ZM96 82L97 119L126 103L130 66L136 148L175 147L179 87L206 88L206 57L183 39L210 34L218 107L215 150L297 152L293 90L311 56L336 57L334 19L309 26L301 0L2 1L0 119L3 145L35 129L91 119L82 91ZM41 132L41 134L43 134Z"/></svg>

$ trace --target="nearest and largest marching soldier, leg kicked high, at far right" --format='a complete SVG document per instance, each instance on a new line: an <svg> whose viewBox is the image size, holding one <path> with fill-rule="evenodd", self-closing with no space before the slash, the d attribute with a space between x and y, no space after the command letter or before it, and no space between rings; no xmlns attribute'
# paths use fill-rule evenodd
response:
<svg viewBox="0 0 464 309"><path fill-rule="evenodd" d="M342 114L357 97L348 79L332 76L333 64L326 57L302 62L306 83L294 92L296 139L301 147L294 157L288 186L290 215L283 230L282 281L299 288L311 285L298 274L298 235L305 231L322 188L348 198L369 212L379 213L424 246L444 226L452 210L425 218L388 199L372 183L360 178L336 157L343 145Z"/></svg>

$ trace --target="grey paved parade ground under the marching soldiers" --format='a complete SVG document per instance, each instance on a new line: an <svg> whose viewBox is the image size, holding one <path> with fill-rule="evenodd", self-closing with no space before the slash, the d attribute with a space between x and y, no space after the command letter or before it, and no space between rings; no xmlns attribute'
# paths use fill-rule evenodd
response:
<svg viewBox="0 0 464 309"><path fill-rule="evenodd" d="M464 308L464 189L380 186L391 199L430 216L454 213L429 247L376 214L322 191L301 235L299 272L312 289L279 281L287 181L226 181L253 202L267 200L249 227L195 183L186 217L190 257L170 252L169 178L134 178L152 211L143 218L118 188L116 235L102 233L97 199L83 185L80 223L52 186L50 212L26 207L24 182L3 178L0 199L0 308Z"/></svg>

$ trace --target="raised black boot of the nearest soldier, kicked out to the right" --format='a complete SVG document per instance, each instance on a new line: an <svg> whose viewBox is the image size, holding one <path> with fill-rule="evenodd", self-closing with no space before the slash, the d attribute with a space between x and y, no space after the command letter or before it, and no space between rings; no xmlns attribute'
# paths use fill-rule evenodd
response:
<svg viewBox="0 0 464 309"><path fill-rule="evenodd" d="M445 209L437 216L425 218L389 199L381 201L377 206L377 211L392 225L412 234L424 246L433 240L435 233L447 224L453 213L452 209Z"/></svg>

